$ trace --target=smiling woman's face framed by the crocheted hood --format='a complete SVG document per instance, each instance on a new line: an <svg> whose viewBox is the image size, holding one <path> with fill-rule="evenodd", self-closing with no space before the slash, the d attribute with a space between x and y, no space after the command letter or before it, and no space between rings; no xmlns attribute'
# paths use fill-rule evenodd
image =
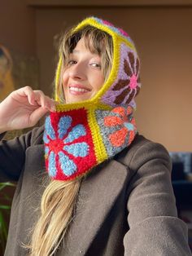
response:
<svg viewBox="0 0 192 256"><path fill-rule="evenodd" d="M81 38L69 56L63 71L63 90L66 103L91 99L104 83L101 57L91 53Z"/></svg>

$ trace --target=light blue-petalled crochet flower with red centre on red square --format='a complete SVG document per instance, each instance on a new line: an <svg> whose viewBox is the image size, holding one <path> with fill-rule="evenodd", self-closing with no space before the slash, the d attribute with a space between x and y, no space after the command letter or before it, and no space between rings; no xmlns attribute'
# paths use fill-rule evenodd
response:
<svg viewBox="0 0 192 256"><path fill-rule="evenodd" d="M74 157L86 157L89 153L89 145L87 143L75 142L76 139L86 135L85 126L78 124L68 132L71 125L72 117L60 117L57 125L58 129L55 130L51 125L50 117L46 118L46 132L44 132L43 140L45 142L46 156L48 157L50 176L55 177L58 163L61 170L63 170L63 174L66 176L74 174L77 166L71 159Z"/></svg>

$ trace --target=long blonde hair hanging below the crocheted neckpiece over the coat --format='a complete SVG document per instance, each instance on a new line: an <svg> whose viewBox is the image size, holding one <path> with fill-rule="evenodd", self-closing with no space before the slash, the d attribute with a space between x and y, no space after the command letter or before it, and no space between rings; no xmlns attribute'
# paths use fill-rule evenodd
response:
<svg viewBox="0 0 192 256"><path fill-rule="evenodd" d="M85 177L84 177L85 178ZM75 215L75 205L82 179L72 181L50 180L41 198L41 215L31 230L30 256L50 256L59 249L69 224ZM35 212L38 212L37 208Z"/></svg>

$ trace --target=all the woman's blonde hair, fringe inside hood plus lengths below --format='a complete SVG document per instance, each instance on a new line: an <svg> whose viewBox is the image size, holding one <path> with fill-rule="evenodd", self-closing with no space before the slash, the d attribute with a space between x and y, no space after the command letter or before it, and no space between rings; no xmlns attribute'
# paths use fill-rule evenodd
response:
<svg viewBox="0 0 192 256"><path fill-rule="evenodd" d="M59 47L59 55L62 56L62 67L65 67L68 56L75 48L76 43L81 38L85 38L85 46L89 48L89 51L101 55L102 70L107 79L112 63L111 36L91 26L86 26L74 34L70 31L63 35ZM62 72L57 93L60 100L64 101L61 77ZM50 181L41 198L41 216L33 228L30 245L24 245L24 248L30 249L28 255L51 256L55 254L61 241L64 241L72 216L75 214L76 199L83 178L68 182Z"/></svg>

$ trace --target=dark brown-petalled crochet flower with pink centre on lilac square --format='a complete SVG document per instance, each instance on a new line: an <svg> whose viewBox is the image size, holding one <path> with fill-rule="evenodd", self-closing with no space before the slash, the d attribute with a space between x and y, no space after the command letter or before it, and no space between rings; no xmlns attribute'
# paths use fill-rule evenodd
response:
<svg viewBox="0 0 192 256"><path fill-rule="evenodd" d="M121 91L120 95L116 96L114 101L115 104L121 104L124 99L129 95L129 98L125 101L125 104L129 104L133 97L136 97L140 87L137 84L140 82L139 72L139 60L134 57L133 52L128 52L128 60L124 60L124 73L128 75L128 79L119 79L116 86L112 90L124 90ZM135 60L136 59L136 60Z"/></svg>

